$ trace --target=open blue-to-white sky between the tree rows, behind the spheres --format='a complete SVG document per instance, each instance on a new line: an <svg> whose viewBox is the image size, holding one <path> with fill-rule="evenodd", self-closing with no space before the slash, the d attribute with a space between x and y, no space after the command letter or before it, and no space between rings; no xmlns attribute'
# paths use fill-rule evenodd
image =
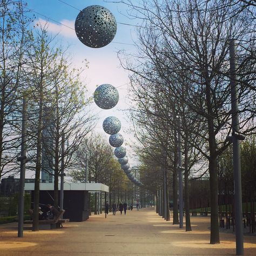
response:
<svg viewBox="0 0 256 256"><path fill-rule="evenodd" d="M109 138L109 135L103 131L103 120L108 116L118 117L122 123L119 133L124 137L126 156L129 157L131 166L137 165L138 159L134 156L133 150L126 144L134 144L136 141L133 133L127 132L130 123L126 117L126 110L131 104L127 98L129 73L120 66L117 52L120 50L136 52L133 40L136 40L136 26L134 25L137 25L138 21L127 17L127 6L122 3L110 3L103 0L28 0L26 3L28 4L26 8L36 16L35 23L44 24L47 21L48 31L52 35L58 33L59 42L64 47L69 46L68 52L73 55L73 63L77 66L83 66L84 59L89 62L89 69L84 73L84 83L89 96L93 95L97 85L112 84L117 87L119 102L113 109L102 110L95 103L91 106L91 110L98 113L99 117L95 132L102 133L106 138ZM79 41L75 33L75 20L79 10L83 10L90 5L104 6L112 12L117 21L116 36L109 45L103 48L93 49L85 46Z"/></svg>

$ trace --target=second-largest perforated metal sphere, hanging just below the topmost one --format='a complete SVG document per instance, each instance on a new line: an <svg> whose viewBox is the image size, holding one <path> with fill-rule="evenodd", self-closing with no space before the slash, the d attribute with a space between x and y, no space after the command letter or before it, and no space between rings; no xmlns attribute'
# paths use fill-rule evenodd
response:
<svg viewBox="0 0 256 256"><path fill-rule="evenodd" d="M94 101L101 109L112 109L119 100L119 94L111 84L102 84L98 86L93 94Z"/></svg>

